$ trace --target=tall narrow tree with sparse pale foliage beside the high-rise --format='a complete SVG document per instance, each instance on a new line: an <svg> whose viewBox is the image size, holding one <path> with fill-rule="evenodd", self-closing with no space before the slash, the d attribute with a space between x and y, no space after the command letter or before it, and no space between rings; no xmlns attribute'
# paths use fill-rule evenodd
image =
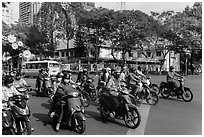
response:
<svg viewBox="0 0 204 137"><path fill-rule="evenodd" d="M66 19L62 13L62 5L59 2L45 2L42 4L37 17L36 25L40 32L46 37L47 44L44 44L45 56L54 56L59 33L64 33Z"/></svg>

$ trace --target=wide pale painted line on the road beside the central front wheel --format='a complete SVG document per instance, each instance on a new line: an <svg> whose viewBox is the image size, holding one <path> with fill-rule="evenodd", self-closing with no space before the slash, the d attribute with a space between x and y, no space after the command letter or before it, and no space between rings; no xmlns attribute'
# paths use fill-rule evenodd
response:
<svg viewBox="0 0 204 137"><path fill-rule="evenodd" d="M149 116L150 105L141 104L139 112L141 114L141 123L136 129L129 129L127 135L144 135L147 119Z"/></svg>

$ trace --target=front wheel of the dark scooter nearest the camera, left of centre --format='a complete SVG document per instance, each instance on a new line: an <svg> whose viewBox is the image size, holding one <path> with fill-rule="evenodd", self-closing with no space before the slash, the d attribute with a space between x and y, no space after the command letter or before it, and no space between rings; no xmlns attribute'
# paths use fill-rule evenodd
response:
<svg viewBox="0 0 204 137"><path fill-rule="evenodd" d="M86 122L84 120L81 119L75 119L78 123L78 125L76 125L76 122L74 122L74 131L78 134L82 134L84 133L85 129L86 129ZM74 119L73 119L74 121Z"/></svg>

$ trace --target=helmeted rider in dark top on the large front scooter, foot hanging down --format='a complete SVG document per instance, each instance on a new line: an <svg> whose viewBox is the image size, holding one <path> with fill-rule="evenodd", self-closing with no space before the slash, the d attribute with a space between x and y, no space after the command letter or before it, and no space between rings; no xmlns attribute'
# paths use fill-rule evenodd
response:
<svg viewBox="0 0 204 137"><path fill-rule="evenodd" d="M55 129L58 131L60 127L60 123L62 120L62 112L63 112L63 107L61 104L62 97L65 96L69 92L73 92L75 89L72 87L72 85L75 85L75 82L71 79L71 74L70 73L65 73L62 77L62 82L58 86L57 91L53 97L53 102L50 104L51 109L49 112L49 116L53 117L55 115L55 108L56 107L61 107L61 115L58 119L58 123L55 127Z"/></svg>

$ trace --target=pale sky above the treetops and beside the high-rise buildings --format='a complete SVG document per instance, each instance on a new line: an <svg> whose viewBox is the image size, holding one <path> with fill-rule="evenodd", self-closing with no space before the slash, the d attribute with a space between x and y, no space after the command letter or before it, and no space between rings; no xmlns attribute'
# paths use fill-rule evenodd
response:
<svg viewBox="0 0 204 137"><path fill-rule="evenodd" d="M39 0L38 0L39 1ZM80 0L78 2L87 2L84 0ZM104 7L104 8L108 8L108 9L114 9L114 10L120 10L121 9L121 2L124 1L107 1L107 0L103 0L105 2L99 2L98 0L92 0L93 2L95 2L95 6L96 7ZM144 1L144 0L143 0ZM30 2L30 1L29 1ZM35 1L31 1L31 2L35 2ZM43 2L43 1L40 1ZM57 1L58 2L58 1ZM59 1L61 2L61 1ZM19 18L19 6L18 6L18 1L14 1L13 3L13 19L14 21L18 21ZM179 2L165 2L164 0L161 2L156 1L156 2L137 2L137 1L125 1L125 9L126 10L141 10L147 14L150 14L151 11L157 11L157 12L162 12L162 11L167 11L167 10L173 10L175 12L177 11L183 11L185 9L185 7L188 5L190 7L193 6L194 1L179 1Z"/></svg>

